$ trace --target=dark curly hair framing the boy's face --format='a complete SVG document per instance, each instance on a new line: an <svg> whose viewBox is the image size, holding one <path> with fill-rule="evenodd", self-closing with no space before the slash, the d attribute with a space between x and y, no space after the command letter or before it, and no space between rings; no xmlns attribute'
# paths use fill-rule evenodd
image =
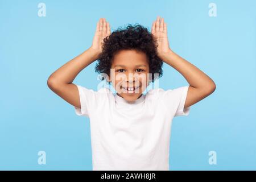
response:
<svg viewBox="0 0 256 182"><path fill-rule="evenodd" d="M146 53L150 73L152 73L150 81L154 82L163 75L163 61L158 57L156 47L158 47L156 40L148 32L147 28L142 25L136 23L134 26L128 24L126 28L118 27L116 31L104 39L102 52L98 57L95 71L97 73L105 73L110 77L110 68L114 55L121 50L135 49ZM158 77L155 77L154 73L158 73ZM104 79L104 77L101 78L101 80ZM110 84L110 82L108 83Z"/></svg>

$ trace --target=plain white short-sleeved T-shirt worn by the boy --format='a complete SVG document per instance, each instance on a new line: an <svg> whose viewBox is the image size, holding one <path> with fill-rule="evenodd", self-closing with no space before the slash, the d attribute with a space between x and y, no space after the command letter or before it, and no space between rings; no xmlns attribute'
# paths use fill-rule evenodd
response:
<svg viewBox="0 0 256 182"><path fill-rule="evenodd" d="M169 170L172 118L189 114L188 86L151 89L133 104L109 88L77 88L75 112L90 119L93 170Z"/></svg>

